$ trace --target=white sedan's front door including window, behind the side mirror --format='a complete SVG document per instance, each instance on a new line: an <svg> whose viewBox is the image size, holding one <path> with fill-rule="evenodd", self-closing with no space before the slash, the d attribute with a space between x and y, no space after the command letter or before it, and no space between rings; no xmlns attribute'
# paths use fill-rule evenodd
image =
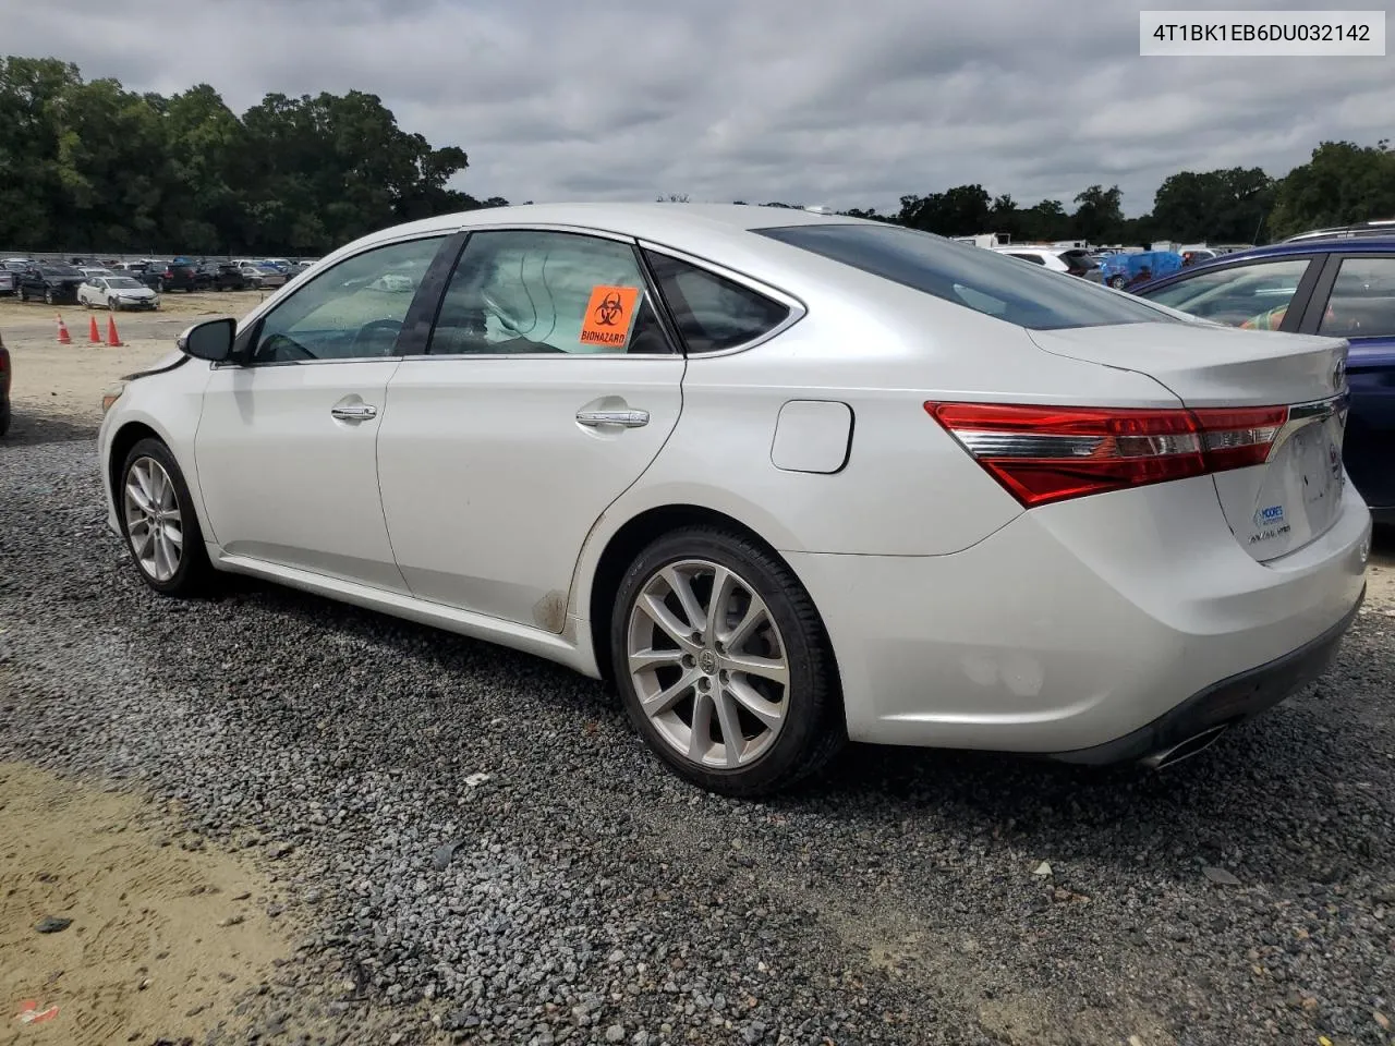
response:
<svg viewBox="0 0 1395 1046"><path fill-rule="evenodd" d="M424 268L445 240L354 254L239 332L236 361L209 377L195 438L204 505L225 554L405 590L375 444L417 289L385 290L381 278L413 261Z"/></svg>

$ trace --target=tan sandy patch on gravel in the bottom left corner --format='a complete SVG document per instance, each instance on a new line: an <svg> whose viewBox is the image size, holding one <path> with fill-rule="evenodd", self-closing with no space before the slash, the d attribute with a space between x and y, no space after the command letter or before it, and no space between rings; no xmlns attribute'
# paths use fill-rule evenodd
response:
<svg viewBox="0 0 1395 1046"><path fill-rule="evenodd" d="M290 954L257 870L181 848L163 814L0 764L0 1043L202 1042ZM73 922L38 933L45 916Z"/></svg>

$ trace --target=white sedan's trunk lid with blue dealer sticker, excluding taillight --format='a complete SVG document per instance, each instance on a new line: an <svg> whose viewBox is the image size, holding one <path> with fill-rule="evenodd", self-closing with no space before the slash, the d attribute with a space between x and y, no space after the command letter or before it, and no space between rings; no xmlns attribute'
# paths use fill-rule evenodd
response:
<svg viewBox="0 0 1395 1046"><path fill-rule="evenodd" d="M1194 410L1286 407L1265 464L1212 476L1226 522L1254 559L1293 552L1339 519L1348 342L1190 324L1030 335L1048 353L1147 374Z"/></svg>

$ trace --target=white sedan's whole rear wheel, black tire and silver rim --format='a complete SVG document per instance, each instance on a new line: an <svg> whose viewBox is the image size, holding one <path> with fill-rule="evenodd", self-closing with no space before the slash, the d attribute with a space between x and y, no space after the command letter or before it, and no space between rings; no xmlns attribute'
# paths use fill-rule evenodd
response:
<svg viewBox="0 0 1395 1046"><path fill-rule="evenodd" d="M778 792L847 741L823 622L794 572L737 531L650 544L619 584L611 664L649 746L721 795Z"/></svg>

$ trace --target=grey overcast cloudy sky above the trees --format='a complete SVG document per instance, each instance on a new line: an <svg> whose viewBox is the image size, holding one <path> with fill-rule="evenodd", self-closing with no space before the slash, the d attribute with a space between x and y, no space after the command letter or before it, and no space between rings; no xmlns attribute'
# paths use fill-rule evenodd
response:
<svg viewBox="0 0 1395 1046"><path fill-rule="evenodd" d="M1069 205L1117 183L1136 215L1176 170L1282 174L1322 139L1391 132L1395 60L1143 59L1143 6L63 0L7 10L0 50L142 91L209 82L237 112L269 91L368 91L405 128L469 152L462 188L513 201L896 209L978 181Z"/></svg>

